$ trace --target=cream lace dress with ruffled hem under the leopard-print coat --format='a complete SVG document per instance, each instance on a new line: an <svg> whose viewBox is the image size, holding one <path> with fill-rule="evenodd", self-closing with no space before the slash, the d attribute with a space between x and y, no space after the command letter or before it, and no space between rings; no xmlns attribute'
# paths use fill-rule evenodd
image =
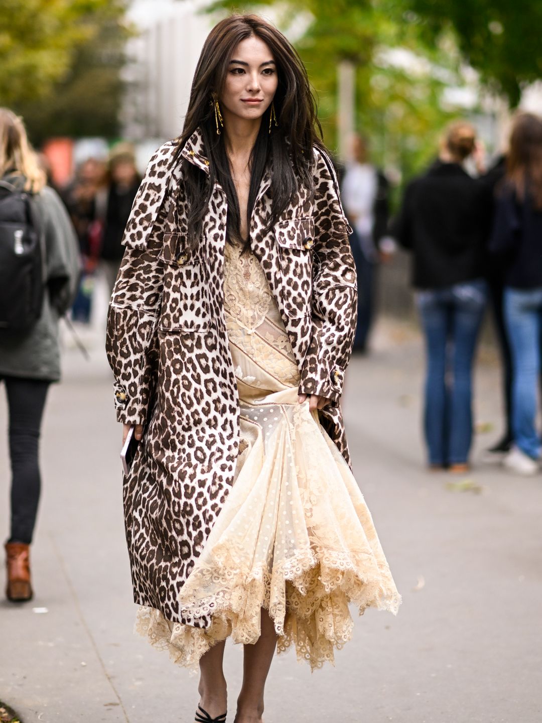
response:
<svg viewBox="0 0 542 723"><path fill-rule="evenodd" d="M209 628L169 623L141 607L137 630L175 662L195 667L213 643L259 638L266 608L278 651L295 645L311 668L348 641L348 603L397 612L397 594L371 513L343 456L309 402L264 272L226 244L225 314L239 404L235 481L181 591L186 615Z"/></svg>

